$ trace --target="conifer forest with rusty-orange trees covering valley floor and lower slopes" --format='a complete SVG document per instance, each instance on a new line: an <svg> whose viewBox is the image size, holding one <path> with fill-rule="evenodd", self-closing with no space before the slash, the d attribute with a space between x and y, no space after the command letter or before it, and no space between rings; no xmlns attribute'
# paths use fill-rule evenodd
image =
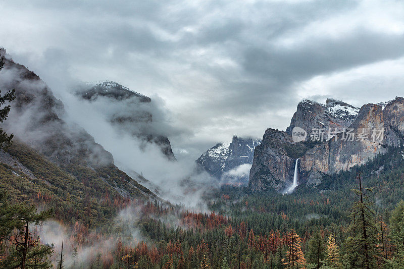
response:
<svg viewBox="0 0 404 269"><path fill-rule="evenodd" d="M403 150L390 147L385 155L377 155L366 165L324 175L317 188L299 186L290 195L223 186L206 195L209 210L201 213L162 205L157 200L122 200L113 190L106 197L17 142L9 151L33 171L35 178L3 165L6 180L2 180L2 189L16 200L27 197L38 207L55 208L55 219L74 226L66 238L69 246L65 246L65 253L75 258L66 260L66 267L366 268L369 264L369 268L398 268L404 260L404 203L400 203ZM33 155L30 163L35 167L24 163L23 156L28 153ZM49 175L64 177L66 184ZM365 188L373 188L373 192ZM87 196L82 195L86 192ZM361 193L369 196L369 202L360 202ZM97 198L89 199L90 195ZM109 222L124 207L136 208L138 217L119 227ZM355 213L362 208L365 222ZM103 226L108 223L110 227ZM137 233L135 239L131 229ZM105 240L112 240L111 246L94 247ZM368 258L365 245L369 246ZM80 258L83 252L85 260Z"/></svg>

